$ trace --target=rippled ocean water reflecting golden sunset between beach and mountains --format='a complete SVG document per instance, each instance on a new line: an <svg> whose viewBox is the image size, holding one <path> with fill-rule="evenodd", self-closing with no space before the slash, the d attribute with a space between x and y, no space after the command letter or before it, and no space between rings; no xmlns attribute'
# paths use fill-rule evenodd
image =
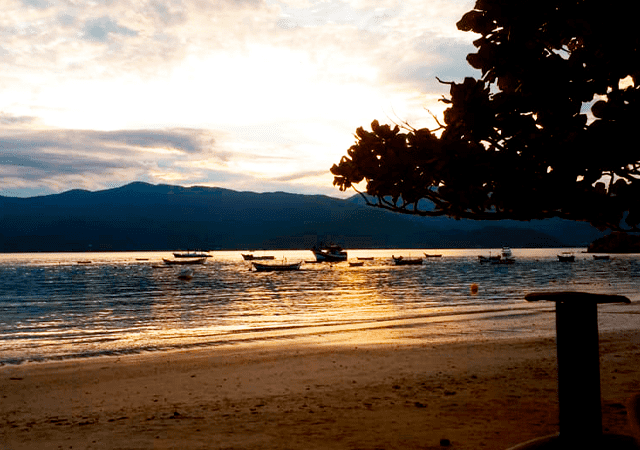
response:
<svg viewBox="0 0 640 450"><path fill-rule="evenodd" d="M625 295L600 305L600 328L640 326L640 255L596 261L573 249L513 249L513 265L481 264L493 250L350 250L362 267L305 263L255 272L241 252L211 252L190 281L170 252L0 254L0 365L242 345L429 344L552 336L554 306L528 292ZM423 256L395 266L391 256ZM310 251L269 251L288 262ZM90 262L88 262L90 261ZM477 293L471 286L478 287Z"/></svg>

